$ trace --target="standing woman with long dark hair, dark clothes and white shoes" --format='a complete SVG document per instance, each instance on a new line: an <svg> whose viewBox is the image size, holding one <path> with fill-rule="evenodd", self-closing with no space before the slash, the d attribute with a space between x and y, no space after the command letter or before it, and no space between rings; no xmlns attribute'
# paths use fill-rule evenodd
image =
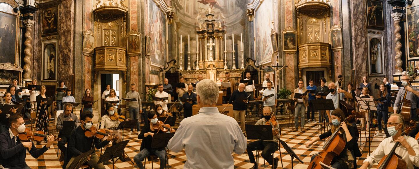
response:
<svg viewBox="0 0 419 169"><path fill-rule="evenodd" d="M375 133L374 136L381 136L383 133L381 133L381 119L384 120L384 126L387 126L387 120L388 120L388 107L390 106L390 94L387 92L387 87L385 86L385 83L380 84L380 90L378 91L378 97L385 97L385 100L378 101L377 105L377 122L378 122L378 131ZM383 135L384 138L386 138L385 135Z"/></svg>

